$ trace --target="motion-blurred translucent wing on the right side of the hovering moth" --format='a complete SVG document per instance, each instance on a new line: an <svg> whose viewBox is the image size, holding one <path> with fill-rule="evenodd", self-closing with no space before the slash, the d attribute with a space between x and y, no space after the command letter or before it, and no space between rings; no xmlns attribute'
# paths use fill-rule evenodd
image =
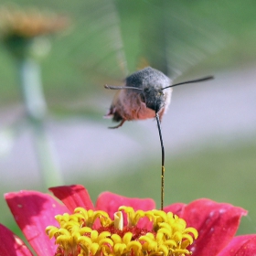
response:
<svg viewBox="0 0 256 256"><path fill-rule="evenodd" d="M140 2L141 56L174 80L230 42L230 36L178 1ZM161 29L159 29L161 27Z"/></svg>

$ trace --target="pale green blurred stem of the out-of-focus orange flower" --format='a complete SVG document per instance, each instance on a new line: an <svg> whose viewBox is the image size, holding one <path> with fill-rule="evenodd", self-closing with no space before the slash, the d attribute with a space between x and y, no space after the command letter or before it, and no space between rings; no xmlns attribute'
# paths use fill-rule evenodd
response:
<svg viewBox="0 0 256 256"><path fill-rule="evenodd" d="M35 59L19 59L18 70L27 117L32 125L38 165L46 187L63 185L57 159L45 127L47 103L40 80L40 67Z"/></svg>

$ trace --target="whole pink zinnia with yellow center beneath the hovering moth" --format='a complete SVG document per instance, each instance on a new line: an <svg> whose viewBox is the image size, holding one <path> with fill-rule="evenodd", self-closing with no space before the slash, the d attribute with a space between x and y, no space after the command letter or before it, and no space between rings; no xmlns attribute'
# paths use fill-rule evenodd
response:
<svg viewBox="0 0 256 256"><path fill-rule="evenodd" d="M216 203L209 199L198 199L188 205L176 203L164 208L165 212L172 212L176 215L175 217L172 214L153 210L155 209L155 202L152 199L127 198L105 192L98 197L94 207L87 190L82 186L52 187L50 191L64 205L48 194L36 191L5 194L6 202L18 226L38 256L65 253L63 252L63 242L69 241L67 239L69 237L69 229L66 231L63 227L67 228L70 225L73 227L73 223L76 223L77 219L83 221L83 224L80 227L76 225L74 227L79 229L86 228L86 233L79 239L86 240L84 243L86 245L87 241L90 240L91 247L88 246L88 248L91 251L96 251L95 255L103 255L103 253L108 255L110 251L111 255L121 255L117 252L113 253L113 246L117 243L121 244L117 247L118 249L115 248L117 251L127 251L128 249L125 249L125 246L132 248L132 250L130 248L130 251L125 252L123 255L142 255L142 253L151 250L158 251L149 252L147 255L187 255L190 252L194 256L256 255L256 235L234 237L240 224L240 218L246 215L246 211L242 208ZM120 208L122 206L125 207ZM119 235L111 233L110 235L113 229L116 231L116 224L113 224L112 221L113 216L116 213L120 213L121 210L127 213L128 222L124 221L122 224L122 221L118 220L117 225L123 226L120 229L124 230L123 233L121 232L122 234L119 233ZM74 211L75 213L73 214ZM118 219L118 217L116 218ZM72 221L69 224L63 224L63 221L65 222L67 219L68 221L72 219ZM73 221L73 219L75 220ZM152 221L149 219L152 219ZM170 226L167 227L166 223ZM62 224L64 225L63 227L61 226ZM164 232L164 235L157 235L159 230L159 227L156 227L157 225L161 226L160 229L164 230L166 228L166 230L161 231ZM59 226L61 226L60 229ZM46 232L47 227L48 234ZM177 229L178 231L174 232ZM74 229L72 228L72 230ZM136 236L134 236L134 232L136 232ZM167 241L166 232L168 232ZM130 236L131 233L132 235ZM99 236L95 237L95 234ZM105 234L104 240L101 238L101 234ZM48 235L56 240L50 240ZM93 236L96 238L95 240L92 238ZM122 238L121 241L120 237ZM165 240L160 240L160 237L164 237ZM96 242L97 238L99 238L98 244ZM3 225L0 225L0 240L1 256L33 255L24 242ZM79 255L78 251L80 250L87 251L88 255L92 255L93 253L88 251L84 244L70 244L69 246L74 249L74 253L71 254L69 251L69 254L66 255ZM104 245L104 250L99 252L101 248L98 249L98 247L101 247L102 244ZM141 246L139 246L140 244ZM182 250L185 252L178 251L176 249L178 247L183 248ZM167 251L167 254L165 254L165 248L170 250Z"/></svg>

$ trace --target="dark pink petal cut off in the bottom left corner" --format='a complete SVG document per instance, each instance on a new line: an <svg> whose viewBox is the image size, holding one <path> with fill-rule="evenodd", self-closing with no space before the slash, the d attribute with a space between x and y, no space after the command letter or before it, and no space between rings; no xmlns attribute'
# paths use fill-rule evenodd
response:
<svg viewBox="0 0 256 256"><path fill-rule="evenodd" d="M0 241L0 255L33 256L23 240L2 224L0 224Z"/></svg>

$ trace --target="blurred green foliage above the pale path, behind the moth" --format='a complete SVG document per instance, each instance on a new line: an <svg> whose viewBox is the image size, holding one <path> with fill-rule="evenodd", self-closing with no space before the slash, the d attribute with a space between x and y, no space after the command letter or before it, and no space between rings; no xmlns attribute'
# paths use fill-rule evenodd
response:
<svg viewBox="0 0 256 256"><path fill-rule="evenodd" d="M199 53L216 50L208 60L211 69L255 61L255 2L246 2L16 1L22 8L35 6L69 16L71 26L52 38L51 54L42 60L44 88L52 109L91 115L108 93L102 84L121 84L144 58L155 68L171 70L170 75L173 69L183 71L183 66L197 63ZM0 59L4 105L18 101L18 94L13 63L2 47Z"/></svg>

